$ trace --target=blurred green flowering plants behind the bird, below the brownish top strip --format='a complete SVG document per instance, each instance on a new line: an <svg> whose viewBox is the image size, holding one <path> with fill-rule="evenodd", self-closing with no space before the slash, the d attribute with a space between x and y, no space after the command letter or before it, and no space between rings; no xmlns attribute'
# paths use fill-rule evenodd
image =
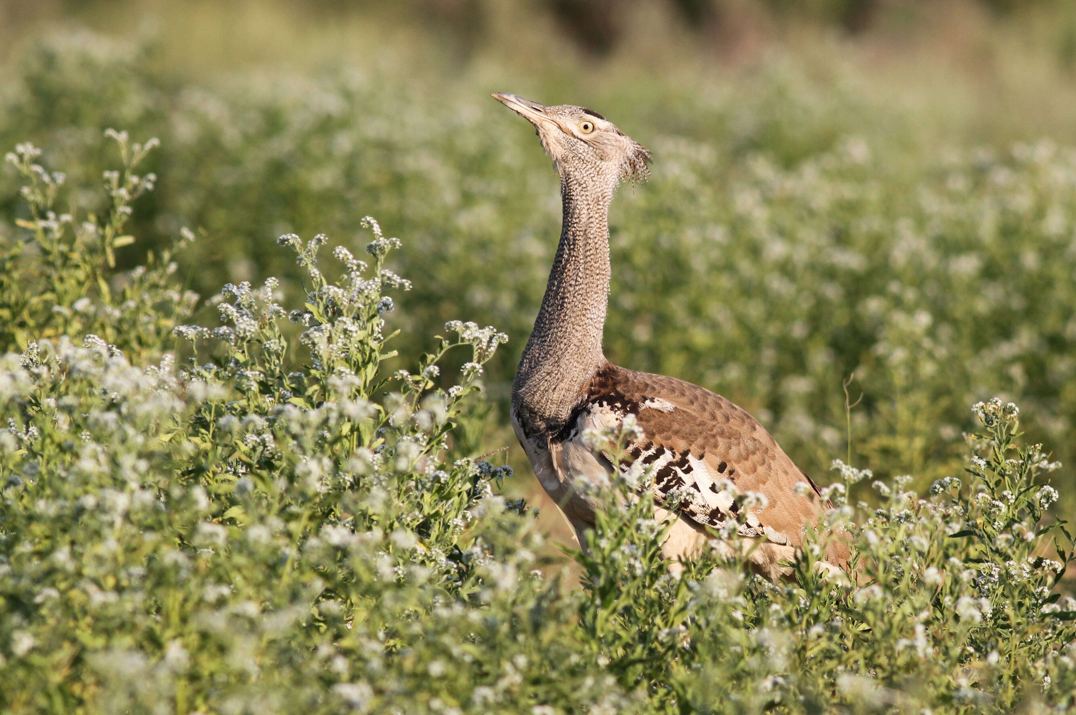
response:
<svg viewBox="0 0 1076 715"><path fill-rule="evenodd" d="M401 353L429 349L455 316L496 325L511 341L485 383L504 398L560 203L533 132L486 92L377 69L175 85L150 48L90 35L20 61L0 139L56 147L44 161L68 171L63 201L103 209L87 196L109 166L98 129L165 139L121 266L188 226L207 240L178 257L184 288L277 275L294 294L302 276L269 248L274 235L350 243L377 215L410 237L394 267L422 278L394 323ZM852 461L879 475L951 473L966 405L993 395L1023 404L1033 437L1073 461L1071 149L924 139L915 116L784 60L697 100L618 91L601 111L656 159L613 206L612 360L726 395L810 474L847 453L840 386L853 374ZM5 196L13 221L14 187Z"/></svg>

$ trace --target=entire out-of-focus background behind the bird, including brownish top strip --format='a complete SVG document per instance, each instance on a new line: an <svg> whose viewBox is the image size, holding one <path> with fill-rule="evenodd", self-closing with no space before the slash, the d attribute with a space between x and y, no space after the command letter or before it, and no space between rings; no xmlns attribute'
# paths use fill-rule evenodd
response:
<svg viewBox="0 0 1076 715"><path fill-rule="evenodd" d="M821 483L834 458L959 475L971 404L1011 399L1074 511L1071 0L0 0L3 151L45 148L94 211L103 129L162 141L122 263L188 226L202 297L268 275L295 296L278 234L355 247L376 216L414 282L402 355L453 318L510 334L471 421L530 494L505 407L560 201L491 91L654 153L613 206L612 360L726 395ZM16 190L0 172L0 240Z"/></svg>

